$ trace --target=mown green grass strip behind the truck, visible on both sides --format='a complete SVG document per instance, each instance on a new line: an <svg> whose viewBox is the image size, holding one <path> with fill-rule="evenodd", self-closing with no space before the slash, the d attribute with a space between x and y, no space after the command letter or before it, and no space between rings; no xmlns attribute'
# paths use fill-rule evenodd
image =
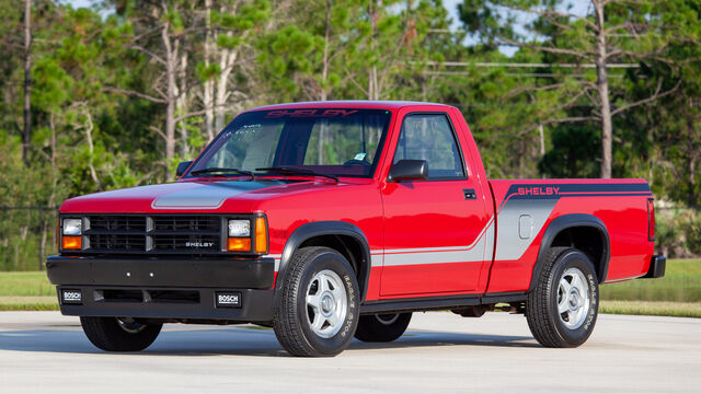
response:
<svg viewBox="0 0 701 394"><path fill-rule="evenodd" d="M671 259L662 279L601 286L600 311L612 314L701 317L701 259ZM0 273L0 311L56 311L46 273Z"/></svg>

